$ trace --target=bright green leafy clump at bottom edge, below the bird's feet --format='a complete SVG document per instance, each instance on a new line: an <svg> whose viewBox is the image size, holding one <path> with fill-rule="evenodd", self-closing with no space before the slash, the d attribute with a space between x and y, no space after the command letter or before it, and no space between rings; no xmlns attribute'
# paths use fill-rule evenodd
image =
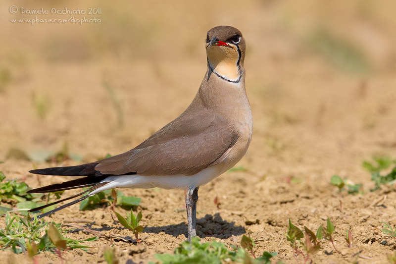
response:
<svg viewBox="0 0 396 264"><path fill-rule="evenodd" d="M175 249L174 254L156 254L154 257L162 264L271 264L270 259L278 255L276 252L264 252L262 257L251 259L242 247L237 249L234 245L231 245L231 248L233 250L227 249L225 244L214 240L202 243L198 237L193 237L191 243L186 241L180 244Z"/></svg>

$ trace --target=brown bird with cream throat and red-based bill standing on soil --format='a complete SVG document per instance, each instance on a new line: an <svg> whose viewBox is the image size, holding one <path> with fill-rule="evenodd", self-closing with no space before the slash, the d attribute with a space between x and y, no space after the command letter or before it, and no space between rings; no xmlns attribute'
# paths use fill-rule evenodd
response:
<svg viewBox="0 0 396 264"><path fill-rule="evenodd" d="M38 215L40 219L114 188L181 189L187 191L188 240L191 242L192 237L197 236L198 188L232 168L246 154L253 131L245 89L246 42L242 33L231 26L214 27L207 32L205 49L207 71L193 102L180 116L125 153L82 165L29 171L83 177L28 193L90 187L29 211L77 198Z"/></svg>

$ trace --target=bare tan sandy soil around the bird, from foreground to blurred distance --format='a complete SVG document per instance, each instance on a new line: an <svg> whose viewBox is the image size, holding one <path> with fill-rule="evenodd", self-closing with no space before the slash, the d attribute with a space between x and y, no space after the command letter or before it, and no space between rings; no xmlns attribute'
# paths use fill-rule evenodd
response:
<svg viewBox="0 0 396 264"><path fill-rule="evenodd" d="M32 162L6 159L10 148L57 151L67 142L70 153L90 162L135 147L189 105L206 70L206 30L230 24L247 39L246 87L253 139L237 164L247 171L224 173L199 189L198 236L238 245L248 234L258 240L256 255L278 252L275 259L295 263L285 237L288 219L300 228L316 230L330 217L341 254L325 242L313 258L315 263L386 263L396 246L394 239L382 234L381 222L396 225L396 193L392 186L370 192L374 183L361 163L373 155L396 157L396 34L391 11L395 5L365 2L368 7L359 1L335 1L326 7L310 1L298 5L250 1L241 7L224 7L223 1L197 7L101 3L107 12L100 25L3 21L7 41L0 53L0 69L10 77L2 82L0 92L0 160L4 161L0 170L8 178L26 176L29 186L39 187L36 176L27 173ZM208 4L213 6L207 8ZM9 5L1 4L7 19ZM73 1L67 5L78 6ZM203 17L208 18L201 21ZM318 24L354 44L368 62L353 55L347 57L360 61L358 66L333 61L345 47L326 53L321 44L309 42L309 32ZM366 66L362 69L361 64ZM115 93L122 126L104 84ZM48 107L43 118L35 97L44 98ZM330 185L334 174L362 183L365 191L343 193L342 211L337 188ZM65 179L41 177L46 184ZM87 243L93 246L88 252L65 252L67 263L103 262L104 248L112 245L120 263L129 259L147 263L155 261L155 253L170 253L186 240L183 191L122 191L142 198L138 207L145 227L142 243L100 238ZM216 196L220 209L213 202ZM117 211L124 213L121 208ZM72 206L48 219L63 223L81 218L93 221L85 225L102 233L131 236L113 222L108 209L79 211ZM352 248L344 239L347 229L353 235ZM77 230L67 236L91 235ZM0 254L0 263L20 263L25 258L8 251ZM40 263L59 263L59 259L41 254Z"/></svg>

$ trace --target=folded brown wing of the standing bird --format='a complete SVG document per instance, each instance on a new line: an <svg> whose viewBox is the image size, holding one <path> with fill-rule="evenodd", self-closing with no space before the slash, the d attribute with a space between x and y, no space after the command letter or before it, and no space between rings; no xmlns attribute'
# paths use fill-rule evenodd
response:
<svg viewBox="0 0 396 264"><path fill-rule="evenodd" d="M94 162L95 170L106 175L193 175L220 158L237 138L217 114L185 114L136 148Z"/></svg>

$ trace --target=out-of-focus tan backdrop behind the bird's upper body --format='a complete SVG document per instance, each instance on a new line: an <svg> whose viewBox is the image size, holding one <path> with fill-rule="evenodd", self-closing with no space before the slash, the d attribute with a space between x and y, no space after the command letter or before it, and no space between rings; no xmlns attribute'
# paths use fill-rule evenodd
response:
<svg viewBox="0 0 396 264"><path fill-rule="evenodd" d="M100 22L10 21L84 16L21 7L101 7L85 15ZM362 158L396 155L395 11L393 0L2 0L0 160L76 164L132 149L190 104L206 31L231 25L247 41L254 118L241 163L359 171Z"/></svg>

